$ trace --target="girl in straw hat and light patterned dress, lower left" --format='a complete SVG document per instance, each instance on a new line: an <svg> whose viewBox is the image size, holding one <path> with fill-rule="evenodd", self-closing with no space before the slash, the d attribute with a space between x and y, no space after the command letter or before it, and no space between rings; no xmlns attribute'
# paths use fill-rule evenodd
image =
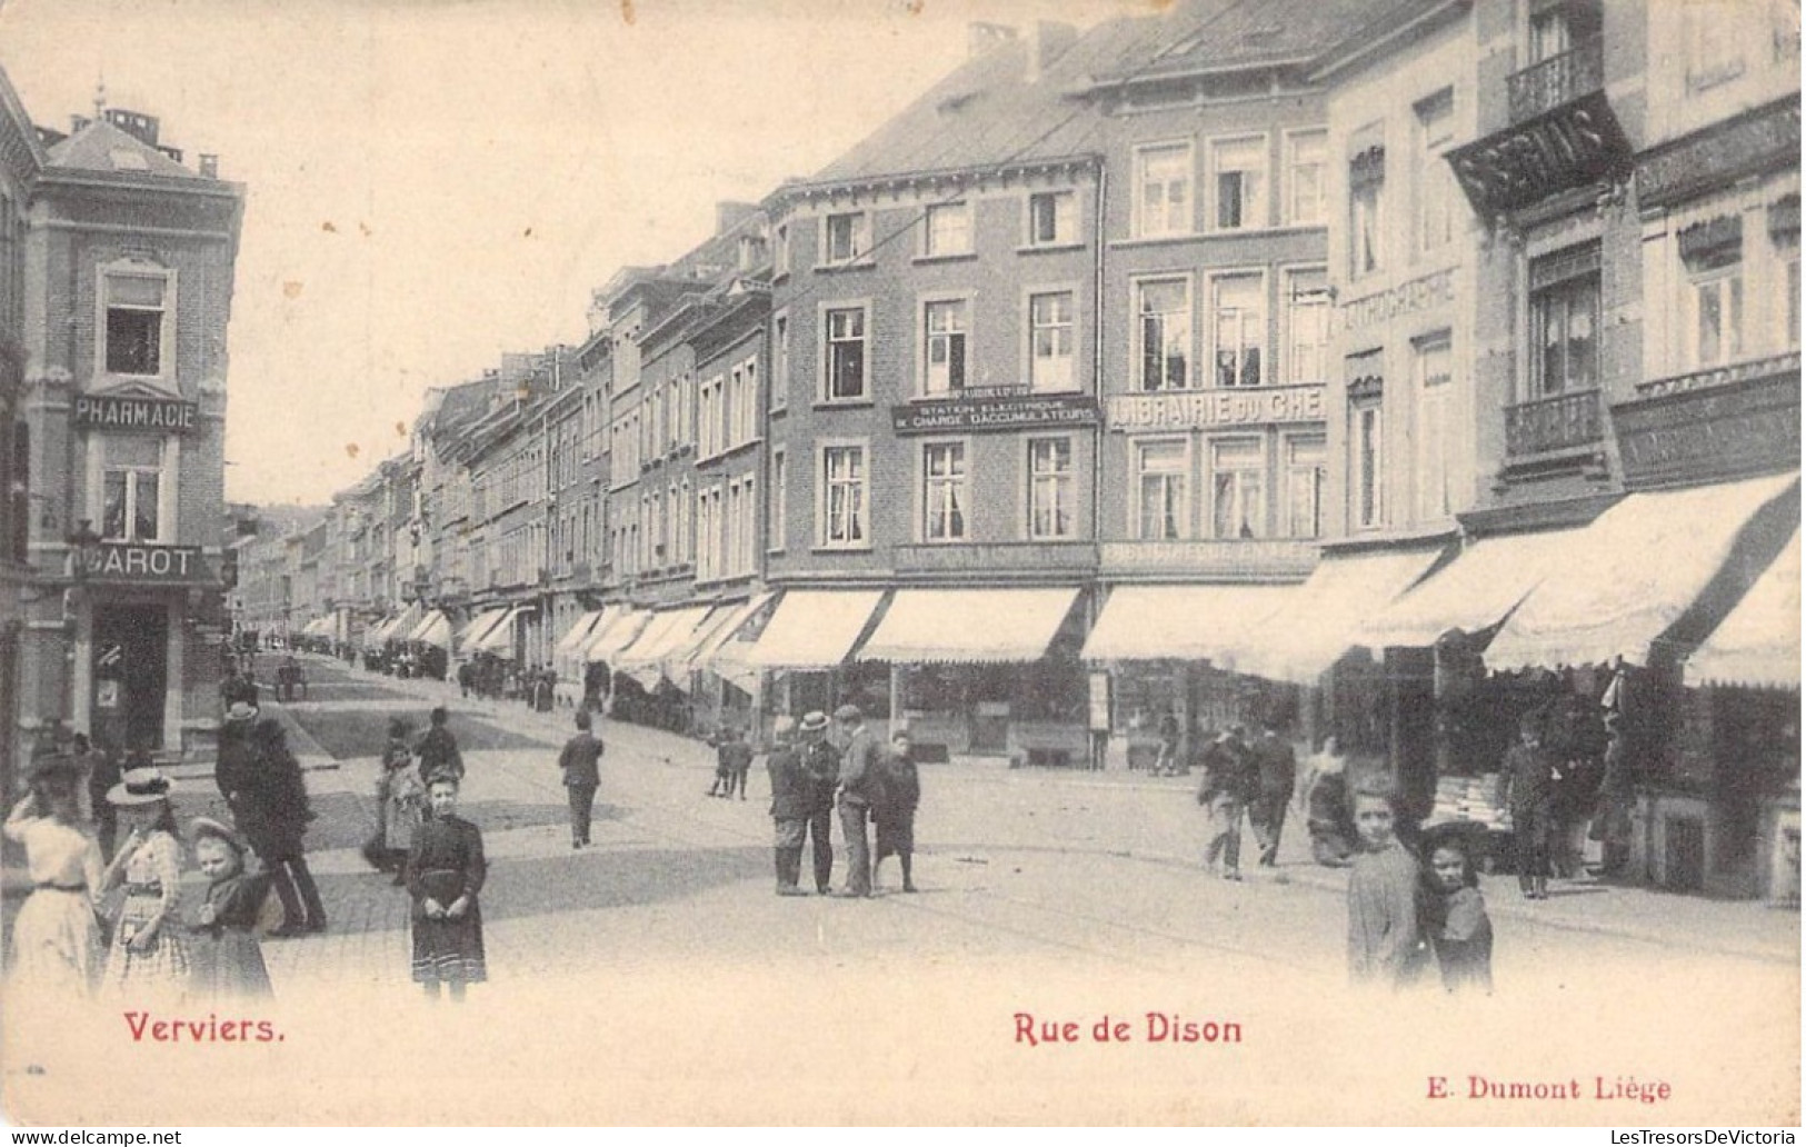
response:
<svg viewBox="0 0 1806 1147"><path fill-rule="evenodd" d="M126 831L101 878L101 891L125 885L101 986L114 995L181 995L188 986L188 947L173 919L182 880L182 844L170 809L170 779L155 768L126 769L107 791Z"/></svg>

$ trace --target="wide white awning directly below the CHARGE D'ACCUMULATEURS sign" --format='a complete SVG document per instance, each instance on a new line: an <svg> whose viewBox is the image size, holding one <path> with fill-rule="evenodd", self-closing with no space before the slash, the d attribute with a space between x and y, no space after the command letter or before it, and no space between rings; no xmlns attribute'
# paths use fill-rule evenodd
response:
<svg viewBox="0 0 1806 1147"><path fill-rule="evenodd" d="M860 657L905 665L1040 661L1075 600L1076 589L903 589Z"/></svg>

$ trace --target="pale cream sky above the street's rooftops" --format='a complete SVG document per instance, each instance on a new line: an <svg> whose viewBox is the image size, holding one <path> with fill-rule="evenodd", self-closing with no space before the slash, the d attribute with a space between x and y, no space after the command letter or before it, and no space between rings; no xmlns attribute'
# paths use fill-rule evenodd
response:
<svg viewBox="0 0 1806 1147"><path fill-rule="evenodd" d="M970 22L1165 0L0 0L31 116L110 107L246 184L226 490L323 502L430 387L585 336L618 267L675 258L876 128Z"/></svg>

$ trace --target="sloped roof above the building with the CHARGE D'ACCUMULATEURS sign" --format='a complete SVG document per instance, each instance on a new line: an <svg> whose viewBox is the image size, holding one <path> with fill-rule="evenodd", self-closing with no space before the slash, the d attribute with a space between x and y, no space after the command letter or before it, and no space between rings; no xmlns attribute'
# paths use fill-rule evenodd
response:
<svg viewBox="0 0 1806 1147"><path fill-rule="evenodd" d="M1028 81L1026 42L993 47L963 63L807 182L961 172L1093 152L1100 145L1100 114L1069 94L1091 74L1140 49L1158 23L1131 18L1100 23L1080 34L1035 83Z"/></svg>

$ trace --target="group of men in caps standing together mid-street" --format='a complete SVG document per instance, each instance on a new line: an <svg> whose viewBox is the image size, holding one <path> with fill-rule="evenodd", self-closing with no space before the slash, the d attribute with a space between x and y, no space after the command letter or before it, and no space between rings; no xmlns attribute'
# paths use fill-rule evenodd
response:
<svg viewBox="0 0 1806 1147"><path fill-rule="evenodd" d="M840 726L838 748L829 741L831 724ZM766 769L771 775L777 894L805 894L800 887L805 844L813 851L816 894L833 891L836 811L847 851L847 883L840 896L870 896L874 871L890 856L903 869L903 891L914 892L921 777L910 757L908 732L898 730L885 746L858 706L842 704L833 721L822 712L805 713L800 724L780 717L773 739ZM869 822L878 831L876 854Z"/></svg>

